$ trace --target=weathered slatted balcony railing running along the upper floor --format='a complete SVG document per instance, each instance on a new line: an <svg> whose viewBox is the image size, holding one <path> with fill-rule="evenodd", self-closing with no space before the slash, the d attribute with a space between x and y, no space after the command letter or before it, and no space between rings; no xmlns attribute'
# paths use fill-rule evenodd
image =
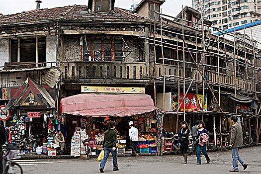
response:
<svg viewBox="0 0 261 174"><path fill-rule="evenodd" d="M62 78L63 82L78 84L81 82L98 83L103 82L105 79L107 82L128 83L139 82L148 83L152 80L151 77L146 74L145 62L61 62ZM178 69L176 65L165 65L166 76L172 75L172 79L178 80ZM147 70L148 71L148 70ZM185 69L185 77L192 79L196 70L194 68ZM153 64L150 66L150 74L153 76ZM163 64L155 65L155 76L162 77L164 74ZM222 84L224 87L234 87L234 78L231 75L220 73L220 81L218 79L217 72L206 71L205 75L208 76L209 83L217 85ZM183 77L183 69L179 67L179 77ZM151 79L150 79L151 78ZM182 80L182 79L181 79ZM202 78L199 75L198 80ZM167 82L168 83L168 82ZM243 79L238 78L237 84L240 88L246 88ZM252 90L253 84L248 81L248 89Z"/></svg>

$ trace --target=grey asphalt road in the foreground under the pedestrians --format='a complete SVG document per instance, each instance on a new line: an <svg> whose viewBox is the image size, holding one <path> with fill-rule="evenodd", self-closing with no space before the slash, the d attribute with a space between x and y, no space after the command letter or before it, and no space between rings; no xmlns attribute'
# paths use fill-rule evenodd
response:
<svg viewBox="0 0 261 174"><path fill-rule="evenodd" d="M118 157L120 171L112 171L112 158L105 166L106 174L229 174L232 169L232 151L208 153L211 159L206 164L204 157L202 165L196 165L195 155L188 157L188 164L183 165L183 157L168 155L163 157ZM240 150L241 157L249 164L240 174L261 174L261 147L244 148ZM98 174L99 162L96 159L64 159L64 160L22 160L24 174Z"/></svg>

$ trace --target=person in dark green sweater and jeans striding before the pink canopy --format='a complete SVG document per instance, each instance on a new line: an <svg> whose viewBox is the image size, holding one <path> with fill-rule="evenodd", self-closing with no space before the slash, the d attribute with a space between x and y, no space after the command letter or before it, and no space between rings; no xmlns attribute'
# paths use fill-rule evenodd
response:
<svg viewBox="0 0 261 174"><path fill-rule="evenodd" d="M113 157L113 161L112 161L113 171L119 171L118 162L117 162L117 148L116 148L117 133L114 130L115 125L116 125L115 121L111 121L109 123L109 129L104 134L104 140L102 144L102 150L104 150L104 157L100 163L100 168L99 168L100 173L104 173L103 170L110 153Z"/></svg>

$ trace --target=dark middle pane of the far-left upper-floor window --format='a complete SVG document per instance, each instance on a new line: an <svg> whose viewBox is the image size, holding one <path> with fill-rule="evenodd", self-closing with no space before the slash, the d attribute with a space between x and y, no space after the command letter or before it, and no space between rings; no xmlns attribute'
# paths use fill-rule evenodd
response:
<svg viewBox="0 0 261 174"><path fill-rule="evenodd" d="M36 62L36 39L20 39L20 62Z"/></svg>

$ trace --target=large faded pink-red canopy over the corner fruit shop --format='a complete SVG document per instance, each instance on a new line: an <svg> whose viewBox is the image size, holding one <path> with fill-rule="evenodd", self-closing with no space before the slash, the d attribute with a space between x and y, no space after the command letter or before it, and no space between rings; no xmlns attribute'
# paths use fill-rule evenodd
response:
<svg viewBox="0 0 261 174"><path fill-rule="evenodd" d="M150 95L87 93L61 99L60 113L82 116L128 116L156 110Z"/></svg>

